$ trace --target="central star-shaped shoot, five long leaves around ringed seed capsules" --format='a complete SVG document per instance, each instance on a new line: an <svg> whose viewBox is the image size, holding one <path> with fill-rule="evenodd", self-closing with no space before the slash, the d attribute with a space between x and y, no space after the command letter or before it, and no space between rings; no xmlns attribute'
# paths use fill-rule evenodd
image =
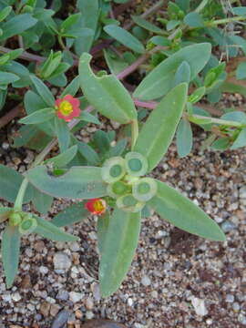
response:
<svg viewBox="0 0 246 328"><path fill-rule="evenodd" d="M184 82L169 87L168 93L138 132L137 111L127 90L119 82L115 83L116 77L95 76L89 67L89 58L85 54L80 59L81 88L88 103L97 111L130 125L132 134L128 149L122 155L105 159L98 167L75 166L62 169L57 174L56 170L52 171L46 165L38 165L29 169L25 176L42 194L87 200L83 206L85 216L89 213L99 215L99 280L102 295L108 297L116 292L128 272L138 246L141 213L145 208L156 211L164 220L200 237L224 241L225 236L217 223L191 200L168 184L149 176L175 135L187 103L188 84ZM58 216L54 222L59 227L69 224L68 219L59 224Z"/></svg>

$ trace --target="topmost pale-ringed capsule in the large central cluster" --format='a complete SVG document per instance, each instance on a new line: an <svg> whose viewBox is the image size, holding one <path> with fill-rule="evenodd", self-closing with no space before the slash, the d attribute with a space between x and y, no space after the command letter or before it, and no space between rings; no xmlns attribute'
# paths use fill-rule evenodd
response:
<svg viewBox="0 0 246 328"><path fill-rule="evenodd" d="M128 174L133 177L140 177L148 170L147 159L138 152L130 151L125 157Z"/></svg>

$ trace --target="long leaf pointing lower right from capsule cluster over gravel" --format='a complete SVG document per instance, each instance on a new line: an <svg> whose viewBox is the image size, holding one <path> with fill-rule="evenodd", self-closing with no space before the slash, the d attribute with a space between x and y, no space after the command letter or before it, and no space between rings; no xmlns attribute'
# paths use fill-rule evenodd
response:
<svg viewBox="0 0 246 328"><path fill-rule="evenodd" d="M188 231L212 241L225 241L225 235L218 224L201 210L193 201L182 196L177 190L163 182L158 183L158 193L148 205L155 210L162 219L181 230Z"/></svg>

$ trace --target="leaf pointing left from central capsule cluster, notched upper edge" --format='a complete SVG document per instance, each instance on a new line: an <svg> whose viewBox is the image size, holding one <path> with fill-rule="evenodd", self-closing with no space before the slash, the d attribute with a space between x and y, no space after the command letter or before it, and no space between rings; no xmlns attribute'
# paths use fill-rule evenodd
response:
<svg viewBox="0 0 246 328"><path fill-rule="evenodd" d="M38 190L54 197L87 200L107 195L107 184L101 178L100 168L74 167L64 175L54 177L45 166L39 166L29 169L26 178Z"/></svg>

